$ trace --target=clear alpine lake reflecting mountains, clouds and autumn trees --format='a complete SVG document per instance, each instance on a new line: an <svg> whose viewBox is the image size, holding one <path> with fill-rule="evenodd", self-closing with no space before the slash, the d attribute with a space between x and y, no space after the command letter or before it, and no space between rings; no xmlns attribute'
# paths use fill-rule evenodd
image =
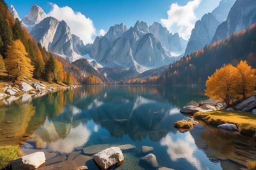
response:
<svg viewBox="0 0 256 170"><path fill-rule="evenodd" d="M25 154L54 153L52 157L95 146L95 150L132 144L116 170L150 170L139 163L151 146L159 167L175 170L240 170L230 160L237 149L255 152L252 138L211 127L204 122L181 133L173 124L191 115L179 112L191 100L199 102L205 86L81 86L0 100L0 145L20 144ZM249 143L245 148L241 143ZM100 145L99 145L100 144ZM97 148L101 147L101 148ZM92 149L92 152L94 150ZM50 162L50 161L48 161ZM46 161L47 163L47 161ZM92 160L89 170L98 170Z"/></svg>

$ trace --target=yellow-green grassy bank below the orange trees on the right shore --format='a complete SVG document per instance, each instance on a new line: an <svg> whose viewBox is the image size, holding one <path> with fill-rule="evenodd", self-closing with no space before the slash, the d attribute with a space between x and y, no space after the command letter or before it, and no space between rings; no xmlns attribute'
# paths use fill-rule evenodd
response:
<svg viewBox="0 0 256 170"><path fill-rule="evenodd" d="M208 113L198 112L194 117L208 124L235 124L240 134L256 138L256 115L246 112L216 110Z"/></svg>

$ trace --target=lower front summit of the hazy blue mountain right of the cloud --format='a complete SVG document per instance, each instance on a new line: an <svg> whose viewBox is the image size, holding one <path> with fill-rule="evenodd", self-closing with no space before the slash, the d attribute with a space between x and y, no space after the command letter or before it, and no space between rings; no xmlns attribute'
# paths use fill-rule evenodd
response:
<svg viewBox="0 0 256 170"><path fill-rule="evenodd" d="M209 44L219 25L220 22L211 13L204 14L201 20L195 22L195 28L191 31L185 56Z"/></svg>

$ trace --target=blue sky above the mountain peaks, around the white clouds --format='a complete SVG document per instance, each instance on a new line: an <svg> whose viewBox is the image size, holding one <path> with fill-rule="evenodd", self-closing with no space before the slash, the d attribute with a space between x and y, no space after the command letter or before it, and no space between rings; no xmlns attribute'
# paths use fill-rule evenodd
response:
<svg viewBox="0 0 256 170"><path fill-rule="evenodd" d="M191 24L199 20L204 13L211 12L220 2L220 0L192 1L197 1L198 6L193 7L195 17L189 21ZM92 20L95 28L92 38L95 38L100 29L108 31L110 26L121 22L127 28L134 26L137 20L146 22L148 26L153 24L154 21L161 23L161 18L168 19L167 11L171 4L177 3L177 7L182 7L188 4L189 0L6 0L6 2L8 5L13 4L20 18L29 13L32 4L42 7L45 13L49 13L53 9L50 2L60 8L68 6L74 12L81 12L86 18ZM179 23L173 23L168 30L182 34L184 29L180 30L180 27ZM184 33L181 36L188 38L189 35L187 34Z"/></svg>

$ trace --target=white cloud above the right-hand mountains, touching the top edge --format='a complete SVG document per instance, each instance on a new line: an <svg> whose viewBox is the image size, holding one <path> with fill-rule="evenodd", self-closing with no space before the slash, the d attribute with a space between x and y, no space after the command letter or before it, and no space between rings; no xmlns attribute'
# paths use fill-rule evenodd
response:
<svg viewBox="0 0 256 170"><path fill-rule="evenodd" d="M198 19L195 9L198 8L202 0L191 0L184 6L173 3L167 11L168 19L161 19L161 23L168 31L172 32L174 26L179 27L178 33L182 38L188 39Z"/></svg>

